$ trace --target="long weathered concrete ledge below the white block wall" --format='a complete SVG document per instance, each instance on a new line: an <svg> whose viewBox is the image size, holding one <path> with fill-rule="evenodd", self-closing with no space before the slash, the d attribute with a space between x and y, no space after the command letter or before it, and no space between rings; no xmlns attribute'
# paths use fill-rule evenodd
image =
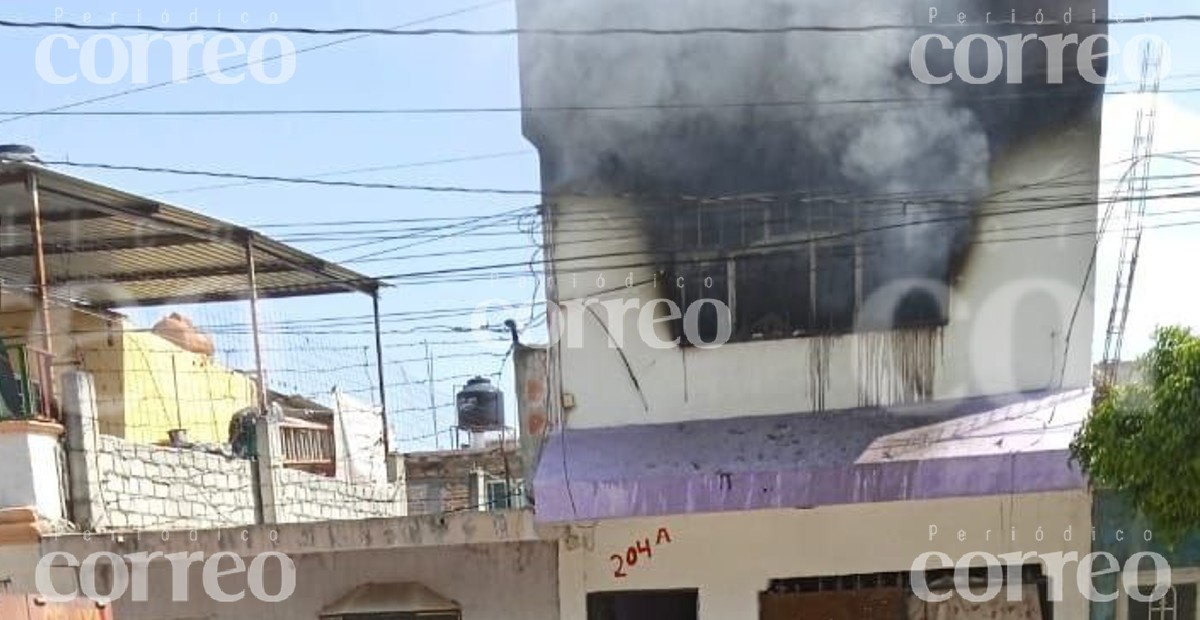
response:
<svg viewBox="0 0 1200 620"><path fill-rule="evenodd" d="M533 512L460 512L421 517L397 517L362 520L330 520L277 525L248 525L215 530L142 530L104 534L72 534L42 538L43 554L67 552L84 558L96 552L192 553L233 552L242 556L265 552L289 555L490 544L541 541L557 535L557 529L534 529Z"/></svg>

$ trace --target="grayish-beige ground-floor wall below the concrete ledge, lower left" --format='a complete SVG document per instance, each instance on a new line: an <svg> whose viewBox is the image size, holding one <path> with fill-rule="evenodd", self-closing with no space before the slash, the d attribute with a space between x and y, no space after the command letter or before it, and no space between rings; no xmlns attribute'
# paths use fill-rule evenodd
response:
<svg viewBox="0 0 1200 620"><path fill-rule="evenodd" d="M172 602L172 573L166 565L149 571L151 601L120 601L114 613L121 620L316 620L322 609L360 585L419 582L458 602L466 620L558 618L553 542L322 553L298 555L294 561L295 594L282 602L260 602L248 590L239 602L214 602L203 594L200 565L188 572L190 601ZM226 562L223 567L232 566L232 560ZM271 560L265 566L266 590L274 594L278 564ZM229 592L244 589L246 574L226 577L221 584Z"/></svg>

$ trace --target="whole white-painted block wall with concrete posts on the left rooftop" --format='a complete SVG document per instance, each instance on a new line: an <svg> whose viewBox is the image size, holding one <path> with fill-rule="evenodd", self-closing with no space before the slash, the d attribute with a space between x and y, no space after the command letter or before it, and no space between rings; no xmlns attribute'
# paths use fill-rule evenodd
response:
<svg viewBox="0 0 1200 620"><path fill-rule="evenodd" d="M71 502L84 530L214 529L398 517L403 483L352 484L283 466L278 425L259 422L258 458L101 434L92 379L64 375Z"/></svg>

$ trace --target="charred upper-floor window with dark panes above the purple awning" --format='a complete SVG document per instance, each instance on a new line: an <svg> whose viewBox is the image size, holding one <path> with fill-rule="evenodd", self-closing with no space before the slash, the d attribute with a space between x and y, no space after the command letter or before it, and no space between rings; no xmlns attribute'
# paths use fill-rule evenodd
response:
<svg viewBox="0 0 1200 620"><path fill-rule="evenodd" d="M734 341L943 325L944 289L904 287L943 282L946 266L863 221L850 201L680 207L668 228L676 301L685 313L704 300L726 305ZM863 312L878 291L892 296L882 315ZM707 303L697 317L700 339L713 342L720 307Z"/></svg>

